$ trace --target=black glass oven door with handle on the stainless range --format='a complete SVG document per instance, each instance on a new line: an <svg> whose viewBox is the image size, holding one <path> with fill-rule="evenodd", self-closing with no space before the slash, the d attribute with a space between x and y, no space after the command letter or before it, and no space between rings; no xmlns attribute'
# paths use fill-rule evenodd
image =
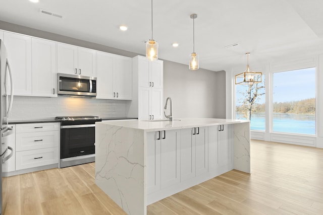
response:
<svg viewBox="0 0 323 215"><path fill-rule="evenodd" d="M61 126L61 159L95 153L95 124Z"/></svg>

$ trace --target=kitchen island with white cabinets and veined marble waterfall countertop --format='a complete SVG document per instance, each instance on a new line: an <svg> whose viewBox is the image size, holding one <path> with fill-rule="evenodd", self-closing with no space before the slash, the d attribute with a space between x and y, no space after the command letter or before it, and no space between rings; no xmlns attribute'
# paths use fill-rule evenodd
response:
<svg viewBox="0 0 323 215"><path fill-rule="evenodd" d="M95 183L128 214L232 169L250 173L250 122L96 122Z"/></svg>

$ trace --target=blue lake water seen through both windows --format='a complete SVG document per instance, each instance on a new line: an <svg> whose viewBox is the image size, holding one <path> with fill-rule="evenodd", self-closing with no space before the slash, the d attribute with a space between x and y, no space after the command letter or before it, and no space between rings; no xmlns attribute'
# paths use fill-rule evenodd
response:
<svg viewBox="0 0 323 215"><path fill-rule="evenodd" d="M236 113L236 119L246 119ZM315 134L315 114L273 113L276 132ZM252 113L250 129L265 130L265 113Z"/></svg>

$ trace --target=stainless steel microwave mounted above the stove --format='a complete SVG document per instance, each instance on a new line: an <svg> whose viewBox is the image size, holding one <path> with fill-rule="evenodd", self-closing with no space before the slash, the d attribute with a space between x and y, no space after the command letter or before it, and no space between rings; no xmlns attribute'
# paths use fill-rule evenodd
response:
<svg viewBox="0 0 323 215"><path fill-rule="evenodd" d="M58 94L74 96L96 96L96 77L59 73Z"/></svg>

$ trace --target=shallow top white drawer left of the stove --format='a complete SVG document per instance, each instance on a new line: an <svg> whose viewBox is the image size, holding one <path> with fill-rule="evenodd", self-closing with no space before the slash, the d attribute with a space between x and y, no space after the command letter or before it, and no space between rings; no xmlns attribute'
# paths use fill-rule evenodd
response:
<svg viewBox="0 0 323 215"><path fill-rule="evenodd" d="M59 130L59 122L17 124L16 133Z"/></svg>

